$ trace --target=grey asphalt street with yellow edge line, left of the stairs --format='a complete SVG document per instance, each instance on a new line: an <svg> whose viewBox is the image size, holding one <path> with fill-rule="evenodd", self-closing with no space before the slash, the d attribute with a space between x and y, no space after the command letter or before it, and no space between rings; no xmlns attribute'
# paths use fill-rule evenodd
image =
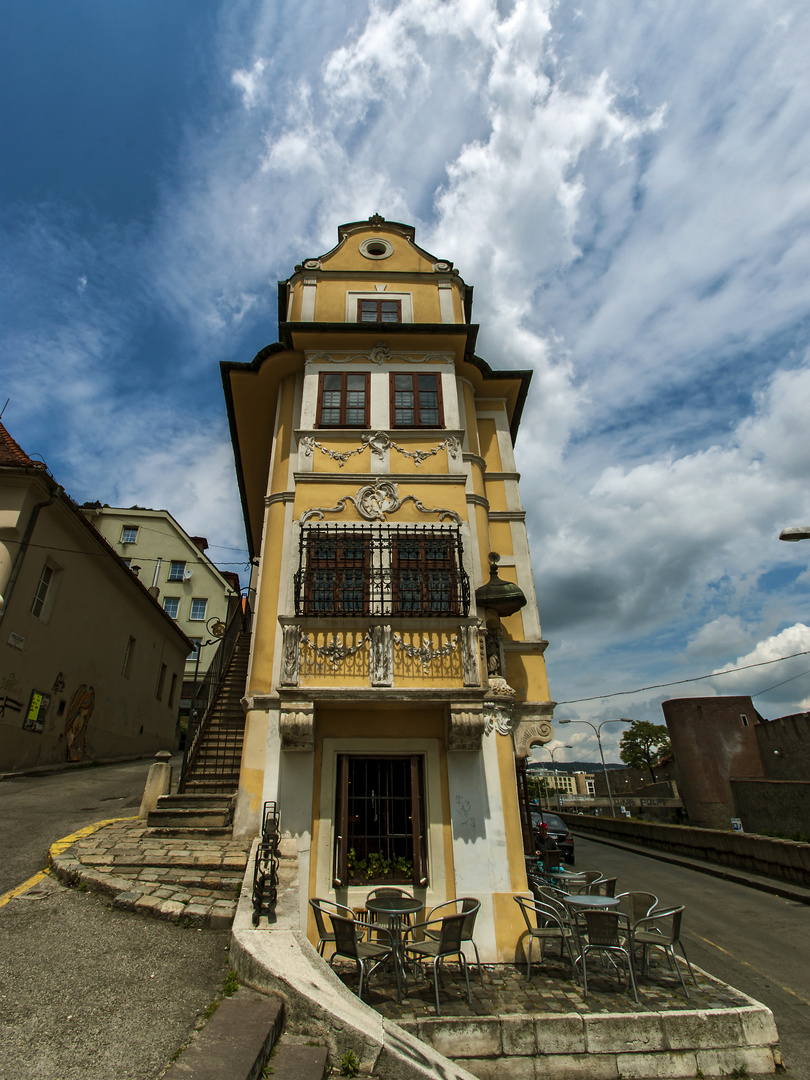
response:
<svg viewBox="0 0 810 1080"><path fill-rule="evenodd" d="M149 765L0 782L0 895L55 840L137 813ZM229 939L44 878L0 907L0 1080L156 1080L221 988Z"/></svg>

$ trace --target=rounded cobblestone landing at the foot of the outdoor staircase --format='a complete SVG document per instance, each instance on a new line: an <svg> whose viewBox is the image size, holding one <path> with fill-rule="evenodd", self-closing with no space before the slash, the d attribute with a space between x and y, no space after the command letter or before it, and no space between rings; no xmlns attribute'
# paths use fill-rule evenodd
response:
<svg viewBox="0 0 810 1080"><path fill-rule="evenodd" d="M237 909L249 841L230 836L157 835L138 819L117 821L54 855L70 885L112 896L112 906L184 926L228 929Z"/></svg>

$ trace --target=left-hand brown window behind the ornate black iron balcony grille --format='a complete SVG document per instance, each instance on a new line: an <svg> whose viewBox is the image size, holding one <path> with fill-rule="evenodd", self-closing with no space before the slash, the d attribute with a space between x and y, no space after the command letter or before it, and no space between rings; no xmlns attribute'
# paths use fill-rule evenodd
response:
<svg viewBox="0 0 810 1080"><path fill-rule="evenodd" d="M369 538L311 529L307 536L303 615L367 615Z"/></svg>

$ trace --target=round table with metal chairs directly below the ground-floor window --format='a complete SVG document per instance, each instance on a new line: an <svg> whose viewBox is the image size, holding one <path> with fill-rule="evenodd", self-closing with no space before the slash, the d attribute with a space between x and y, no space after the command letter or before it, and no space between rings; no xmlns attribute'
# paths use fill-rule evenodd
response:
<svg viewBox="0 0 810 1080"><path fill-rule="evenodd" d="M373 890L365 901L365 912L372 917L365 921L355 913L334 901L312 899L310 906L314 913L319 932L318 950L323 956L327 944L334 946L329 963L336 957L353 960L360 972L357 995L363 997L363 986L372 973L384 966L392 970L396 980L396 1000L402 1003L402 986L407 984L408 969L421 970L421 964L431 962L435 991L436 1015L441 1015L438 1001L438 976L445 959L456 958L464 974L467 999L472 1003L467 957L462 943L470 942L475 949L481 974L478 949L473 941L475 917L481 907L473 896L446 901L432 907L428 918L414 926L407 920L422 909L422 902L403 889L384 888ZM434 917L435 913L444 914ZM327 927L327 920L332 930ZM368 969L368 970L367 970Z"/></svg>

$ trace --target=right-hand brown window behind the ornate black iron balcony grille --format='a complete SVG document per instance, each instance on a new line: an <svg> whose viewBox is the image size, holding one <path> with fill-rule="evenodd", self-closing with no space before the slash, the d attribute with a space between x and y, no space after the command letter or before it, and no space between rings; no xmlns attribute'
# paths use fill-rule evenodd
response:
<svg viewBox="0 0 810 1080"><path fill-rule="evenodd" d="M447 534L397 536L391 552L395 615L458 615L458 563Z"/></svg>

